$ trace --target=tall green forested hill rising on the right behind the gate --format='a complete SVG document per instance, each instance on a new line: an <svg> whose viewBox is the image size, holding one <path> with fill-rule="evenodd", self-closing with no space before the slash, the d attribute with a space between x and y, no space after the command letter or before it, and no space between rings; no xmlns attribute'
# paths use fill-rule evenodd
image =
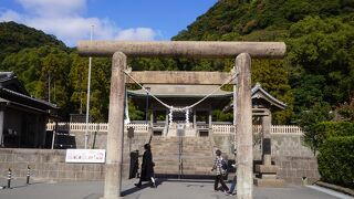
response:
<svg viewBox="0 0 354 199"><path fill-rule="evenodd" d="M280 123L354 96L352 0L220 0L173 40L284 41L283 61L252 63L252 82L289 105Z"/></svg>

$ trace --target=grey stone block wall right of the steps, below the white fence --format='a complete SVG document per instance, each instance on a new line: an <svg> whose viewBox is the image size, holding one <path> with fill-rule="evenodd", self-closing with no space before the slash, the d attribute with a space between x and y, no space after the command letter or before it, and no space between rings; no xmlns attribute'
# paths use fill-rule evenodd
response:
<svg viewBox="0 0 354 199"><path fill-rule="evenodd" d="M272 161L279 166L278 176L290 184L313 182L319 180L317 161L310 148L302 145L301 134L271 134ZM214 135L215 147L221 149L230 158L232 156L232 139L230 135ZM253 138L253 159L261 163L262 150L260 136Z"/></svg>

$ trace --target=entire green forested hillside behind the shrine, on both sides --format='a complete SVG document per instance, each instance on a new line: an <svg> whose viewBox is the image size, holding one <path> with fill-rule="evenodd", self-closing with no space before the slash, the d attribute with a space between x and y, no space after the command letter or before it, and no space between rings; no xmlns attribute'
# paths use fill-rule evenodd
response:
<svg viewBox="0 0 354 199"><path fill-rule="evenodd" d="M288 104L274 114L274 123L327 119L336 107L352 107L345 102L354 96L353 0L220 0L173 40L284 41L284 59L252 60L252 83ZM13 22L0 23L0 70L14 71L32 95L51 96L65 119L85 112L88 59L52 35ZM128 64L133 70L229 71L235 62L129 59ZM93 59L92 65L91 114L94 122L106 122L111 61ZM143 118L139 112L131 116Z"/></svg>

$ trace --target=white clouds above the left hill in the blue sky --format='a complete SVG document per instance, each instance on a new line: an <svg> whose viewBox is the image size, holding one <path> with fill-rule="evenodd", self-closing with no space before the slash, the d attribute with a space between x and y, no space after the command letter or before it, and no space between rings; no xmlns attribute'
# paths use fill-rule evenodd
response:
<svg viewBox="0 0 354 199"><path fill-rule="evenodd" d="M84 18L87 0L17 0L23 13L0 10L0 21L15 21L54 34L69 46L88 40L94 25L95 40L154 40L159 35L150 28L119 29L110 19Z"/></svg>

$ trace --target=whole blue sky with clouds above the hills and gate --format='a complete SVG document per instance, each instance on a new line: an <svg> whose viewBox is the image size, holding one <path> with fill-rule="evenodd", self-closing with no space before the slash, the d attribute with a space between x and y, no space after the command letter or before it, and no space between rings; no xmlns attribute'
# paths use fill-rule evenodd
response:
<svg viewBox="0 0 354 199"><path fill-rule="evenodd" d="M0 0L0 22L54 34L67 45L88 40L170 40L217 0Z"/></svg>

